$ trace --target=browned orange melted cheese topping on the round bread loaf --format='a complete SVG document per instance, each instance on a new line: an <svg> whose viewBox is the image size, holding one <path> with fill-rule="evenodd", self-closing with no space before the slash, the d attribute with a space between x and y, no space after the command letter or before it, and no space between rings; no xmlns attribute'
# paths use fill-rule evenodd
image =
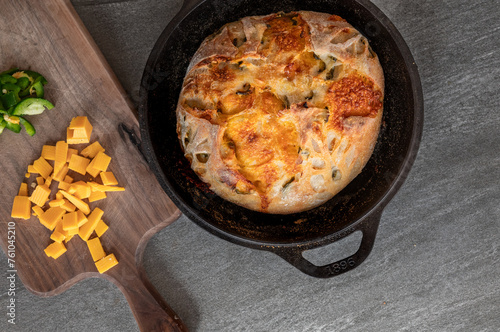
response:
<svg viewBox="0 0 500 332"><path fill-rule="evenodd" d="M335 38L354 32L345 28ZM275 182L286 179L286 186L302 171L304 130L319 141L326 141L327 130L341 136L348 117L377 115L383 93L349 63L316 54L311 28L298 13L266 17L256 28L258 45L247 42L241 21L227 25L227 33L237 51L195 64L180 103L223 131L220 155L231 172L220 180L237 193L257 192L265 210Z"/></svg>

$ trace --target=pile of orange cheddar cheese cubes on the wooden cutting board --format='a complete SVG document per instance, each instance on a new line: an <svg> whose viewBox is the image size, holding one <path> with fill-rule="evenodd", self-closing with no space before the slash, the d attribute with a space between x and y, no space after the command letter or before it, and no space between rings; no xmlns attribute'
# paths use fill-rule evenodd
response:
<svg viewBox="0 0 500 332"><path fill-rule="evenodd" d="M87 242L97 270L104 273L118 264L118 260L114 254L106 256L101 244L100 237L109 228L102 220L104 211L98 207L91 210L86 200L89 203L95 202L106 198L108 191L123 191L125 188L118 187L114 174L107 170L111 157L104 153L105 149L99 142L88 145L81 153L69 147L69 144L88 143L91 133L92 125L88 118L75 117L67 128L66 141L59 141L55 146L43 146L40 158L28 166L28 173L25 175L29 181L30 174L39 174L36 179L38 185L31 183L34 190L29 196L28 184L21 184L18 195L14 198L11 214L14 218L29 219L33 211L40 223L52 231L50 239L54 242L44 251L54 259L66 252L65 243L78 234ZM54 161L53 166L48 160ZM68 175L69 171L83 176L88 173L94 179L100 175L102 184L74 182ZM86 181L94 181L89 177L87 179ZM59 191L49 201L52 181L58 182ZM49 207L44 211L43 206L47 202ZM94 237L94 232L97 237Z"/></svg>

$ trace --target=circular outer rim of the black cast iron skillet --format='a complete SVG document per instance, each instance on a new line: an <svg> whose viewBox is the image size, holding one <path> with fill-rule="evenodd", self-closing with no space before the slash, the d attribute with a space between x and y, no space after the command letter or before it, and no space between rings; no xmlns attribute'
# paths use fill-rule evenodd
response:
<svg viewBox="0 0 500 332"><path fill-rule="evenodd" d="M142 138L142 149L144 155L148 161L148 164L152 168L155 173L160 185L165 190L165 192L169 195L175 205L192 221L198 224L200 227L209 231L210 233L228 240L233 243L237 243L240 245L244 245L247 247L257 248L257 249L269 249L275 247L319 247L326 245L328 243L332 243L339 239L339 236L342 234L350 234L352 231L356 230L357 226L366 218L371 216L380 218L380 215L385 208L385 206L390 202L390 200L397 193L399 188L402 186L404 181L406 180L408 173L416 159L418 148L421 141L421 136L423 132L423 93L422 86L420 82L420 76L418 74L418 68L415 63L415 60L408 48L408 45L404 41L403 37L396 29L394 24L388 19L388 17L378 9L374 4L366 0L354 0L360 6L364 7L368 12L370 12L373 17L375 17L379 23L387 30L388 34L391 36L394 44L397 46L397 51L401 53L402 58L404 59L404 63L406 65L406 70L408 71L408 77L410 80L410 86L412 87L413 93L413 105L414 105L414 114L412 127L413 131L411 133L411 137L409 139L409 143L407 145L407 151L401 162L399 169L397 170L397 174L394 179L391 181L390 185L387 189L380 194L380 197L369 207L367 208L356 220L349 222L346 226L341 228L336 232L332 232L330 234L321 235L314 239L306 239L303 241L291 241L291 242L273 242L255 238L248 238L243 235L235 235L225 230L213 225L212 223L204 220L193 207L190 206L182 197L171 188L167 177L161 169L160 162L154 153L154 148L151 141L150 136L150 127L148 122L148 111L149 111L149 93L145 88L149 86L154 68L156 67L159 56L161 55L165 45L168 40L175 33L175 30L178 28L179 24L181 24L190 13L196 9L199 5L203 4L207 0L187 0L181 10L174 16L174 18L170 21L170 23L163 30L160 37L157 39L150 56L148 58L144 74L141 80L141 90L140 90L140 106L139 106L139 122L140 122L140 131ZM210 0L208 0L210 1Z"/></svg>

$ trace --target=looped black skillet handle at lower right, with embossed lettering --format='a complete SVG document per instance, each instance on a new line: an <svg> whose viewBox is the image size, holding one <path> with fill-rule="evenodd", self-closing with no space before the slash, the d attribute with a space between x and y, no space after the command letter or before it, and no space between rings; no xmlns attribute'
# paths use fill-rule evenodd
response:
<svg viewBox="0 0 500 332"><path fill-rule="evenodd" d="M361 240L361 245L359 246L359 249L358 251L356 251L356 253L334 263L317 266L305 259L302 253L312 248L304 249L300 247L280 247L275 248L273 252L286 260L288 263L292 264L300 271L312 277L335 277L358 267L368 257L373 248L373 243L375 242L375 236L377 235L381 216L382 209L377 210L371 215L364 218L364 220L356 224L354 227L341 234L336 239L336 241L349 236L355 231L361 231L363 233L363 238Z"/></svg>

